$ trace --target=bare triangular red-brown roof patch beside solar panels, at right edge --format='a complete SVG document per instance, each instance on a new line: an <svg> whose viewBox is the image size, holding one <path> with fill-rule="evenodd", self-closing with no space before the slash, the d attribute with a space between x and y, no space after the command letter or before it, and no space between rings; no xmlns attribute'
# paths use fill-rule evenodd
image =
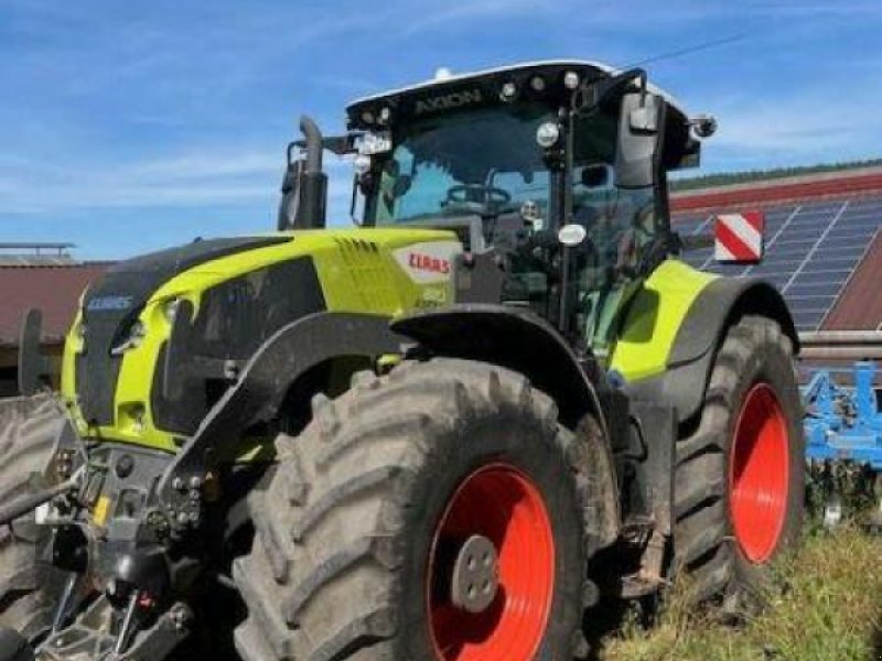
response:
<svg viewBox="0 0 882 661"><path fill-rule="evenodd" d="M882 327L882 230L854 269L824 319L824 330L876 330Z"/></svg>

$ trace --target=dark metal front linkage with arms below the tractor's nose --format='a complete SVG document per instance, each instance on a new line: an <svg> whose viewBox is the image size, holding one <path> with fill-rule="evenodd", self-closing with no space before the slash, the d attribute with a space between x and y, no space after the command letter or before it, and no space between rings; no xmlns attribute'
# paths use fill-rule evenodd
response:
<svg viewBox="0 0 882 661"><path fill-rule="evenodd" d="M175 595L195 576L178 555L157 485L171 458L130 446L89 446L68 423L34 496L3 508L11 524L36 508L50 529L47 560L65 576L52 629L36 659L162 659L189 635L192 614ZM194 505L201 485L189 491ZM14 644L8 646L20 655ZM0 652L6 652L0 649Z"/></svg>

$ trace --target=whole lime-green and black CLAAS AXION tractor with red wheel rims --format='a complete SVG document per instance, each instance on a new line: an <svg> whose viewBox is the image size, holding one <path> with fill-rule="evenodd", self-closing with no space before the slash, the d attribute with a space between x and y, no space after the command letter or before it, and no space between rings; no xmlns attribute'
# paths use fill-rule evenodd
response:
<svg viewBox="0 0 882 661"><path fill-rule="evenodd" d="M83 295L63 423L2 431L7 658L560 661L604 595L757 600L802 519L798 340L772 285L677 259L667 173L713 120L583 62L347 120L301 120L278 232Z"/></svg>

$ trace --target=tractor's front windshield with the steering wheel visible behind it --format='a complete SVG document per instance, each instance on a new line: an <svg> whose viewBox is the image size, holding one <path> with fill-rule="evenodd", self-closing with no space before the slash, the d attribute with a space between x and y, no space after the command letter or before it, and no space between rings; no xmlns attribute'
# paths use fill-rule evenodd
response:
<svg viewBox="0 0 882 661"><path fill-rule="evenodd" d="M482 108L407 124L383 164L368 209L376 225L548 208L550 175L536 131L553 112L539 104Z"/></svg>

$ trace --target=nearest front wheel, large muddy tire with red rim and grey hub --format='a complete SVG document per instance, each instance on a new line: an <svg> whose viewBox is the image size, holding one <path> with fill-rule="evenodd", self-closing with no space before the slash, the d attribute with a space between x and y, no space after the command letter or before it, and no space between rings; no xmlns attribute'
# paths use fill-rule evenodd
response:
<svg viewBox="0 0 882 661"><path fill-rule="evenodd" d="M251 496L254 548L234 566L245 659L587 653L587 453L548 397L434 359L357 375L313 414Z"/></svg>

